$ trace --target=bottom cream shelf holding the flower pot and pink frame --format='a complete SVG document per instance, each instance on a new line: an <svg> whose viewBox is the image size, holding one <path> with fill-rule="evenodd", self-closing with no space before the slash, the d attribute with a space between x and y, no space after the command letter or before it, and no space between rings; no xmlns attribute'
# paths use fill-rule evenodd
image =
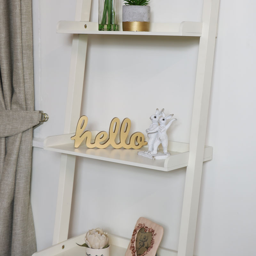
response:
<svg viewBox="0 0 256 256"><path fill-rule="evenodd" d="M85 234L70 238L40 252L35 252L32 256L84 256L85 248L76 243L84 244ZM109 234L110 256L124 256L129 242L130 239ZM158 248L157 256L177 256L177 252Z"/></svg>

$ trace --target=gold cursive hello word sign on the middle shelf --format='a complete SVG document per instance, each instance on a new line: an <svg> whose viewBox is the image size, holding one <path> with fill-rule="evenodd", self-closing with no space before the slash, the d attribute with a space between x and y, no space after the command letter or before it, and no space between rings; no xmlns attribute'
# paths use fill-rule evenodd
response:
<svg viewBox="0 0 256 256"><path fill-rule="evenodd" d="M88 117L81 116L76 126L76 134L71 137L71 140L75 140L75 148L78 148L83 140L86 140L87 148L107 148L111 145L113 148L139 149L148 143L144 141L145 138L143 133L135 132L131 135L130 142L126 144L125 140L127 139L131 128L131 120L129 118L124 118L121 124L120 142L118 143L116 143L115 139L120 126L119 118L115 117L112 119L109 126L109 135L107 132L99 132L95 137L94 143L91 143L92 132L85 131L87 123Z"/></svg>

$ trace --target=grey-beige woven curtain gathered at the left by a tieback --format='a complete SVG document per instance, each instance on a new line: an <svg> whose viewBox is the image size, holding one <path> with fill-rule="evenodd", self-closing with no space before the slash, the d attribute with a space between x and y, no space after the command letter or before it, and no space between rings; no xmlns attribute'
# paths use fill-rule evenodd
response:
<svg viewBox="0 0 256 256"><path fill-rule="evenodd" d="M30 204L34 111L31 0L0 0L0 255L32 255Z"/></svg>

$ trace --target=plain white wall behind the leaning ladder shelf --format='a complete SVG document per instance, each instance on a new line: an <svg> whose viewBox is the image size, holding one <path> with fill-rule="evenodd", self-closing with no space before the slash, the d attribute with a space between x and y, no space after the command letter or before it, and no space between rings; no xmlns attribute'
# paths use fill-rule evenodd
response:
<svg viewBox="0 0 256 256"><path fill-rule="evenodd" d="M92 2L96 22L98 1ZM201 19L202 0L159 2L151 0L154 22ZM213 146L213 159L203 166L199 256L254 254L255 7L249 0L220 2L205 143ZM56 34L56 24L74 16L75 1L33 0L35 106L50 116L36 137L63 133L72 36ZM89 130L108 130L117 116L131 119L131 132L143 132L153 111L165 108L178 118L170 140L189 142L197 38L90 36L88 50L81 114L88 116ZM60 154L34 148L31 200L38 250L52 244L59 168ZM164 227L161 246L177 250L185 171L78 158L69 236L102 227L130 238L144 216Z"/></svg>

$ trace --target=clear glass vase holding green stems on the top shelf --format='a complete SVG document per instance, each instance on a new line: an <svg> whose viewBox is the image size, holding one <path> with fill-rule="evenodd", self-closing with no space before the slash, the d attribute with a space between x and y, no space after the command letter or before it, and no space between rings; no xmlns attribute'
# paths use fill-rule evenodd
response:
<svg viewBox="0 0 256 256"><path fill-rule="evenodd" d="M99 30L119 30L118 0L99 0Z"/></svg>

